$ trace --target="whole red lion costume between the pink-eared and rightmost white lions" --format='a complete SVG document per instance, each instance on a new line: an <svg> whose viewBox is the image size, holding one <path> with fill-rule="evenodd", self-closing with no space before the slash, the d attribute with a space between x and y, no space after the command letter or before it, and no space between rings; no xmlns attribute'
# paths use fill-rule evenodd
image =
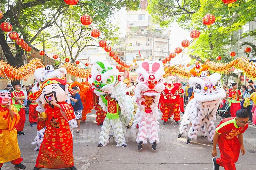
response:
<svg viewBox="0 0 256 170"><path fill-rule="evenodd" d="M163 113L162 120L164 124L171 119L173 115L173 120L179 125L180 120L180 105L179 105L179 86L180 83L164 83L165 89L161 93L160 97L160 110Z"/></svg>

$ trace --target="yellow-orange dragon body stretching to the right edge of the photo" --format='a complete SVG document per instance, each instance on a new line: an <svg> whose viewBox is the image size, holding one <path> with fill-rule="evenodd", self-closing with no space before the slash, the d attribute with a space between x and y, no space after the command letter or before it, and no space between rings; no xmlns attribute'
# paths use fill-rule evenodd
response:
<svg viewBox="0 0 256 170"><path fill-rule="evenodd" d="M242 70L250 79L256 78L255 64L252 64L252 61L249 62L249 59L243 57L236 58L235 60L226 64L218 64L213 61L208 61L205 62L205 65L209 67L210 71L220 74L228 74L230 73L232 67L235 67L237 70Z"/></svg>

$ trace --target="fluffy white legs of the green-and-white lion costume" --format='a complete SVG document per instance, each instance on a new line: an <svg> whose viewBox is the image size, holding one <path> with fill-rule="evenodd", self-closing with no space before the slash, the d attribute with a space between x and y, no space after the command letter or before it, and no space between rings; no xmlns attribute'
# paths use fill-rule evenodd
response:
<svg viewBox="0 0 256 170"><path fill-rule="evenodd" d="M99 144L102 144L102 146L105 146L108 144L109 142L108 139L109 139L111 130L114 132L114 136L117 143L116 146L121 146L125 144L124 132L123 132L122 123L120 122L120 119L109 119L107 117L105 118L103 125L101 127Z"/></svg>

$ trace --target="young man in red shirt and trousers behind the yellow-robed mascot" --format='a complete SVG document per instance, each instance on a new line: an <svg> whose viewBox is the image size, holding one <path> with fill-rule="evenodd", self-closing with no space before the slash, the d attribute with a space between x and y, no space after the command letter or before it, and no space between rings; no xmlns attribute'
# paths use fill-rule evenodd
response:
<svg viewBox="0 0 256 170"><path fill-rule="evenodd" d="M14 99L15 102L13 102L14 106L17 108L18 113L20 115L20 121L19 123L15 126L17 129L17 135L25 135L25 132L23 131L25 121L26 121L26 115L25 115L25 106L23 104L23 100L25 100L25 95L23 91L20 91L21 85L20 83L14 84L14 91L12 92L11 96Z"/></svg>

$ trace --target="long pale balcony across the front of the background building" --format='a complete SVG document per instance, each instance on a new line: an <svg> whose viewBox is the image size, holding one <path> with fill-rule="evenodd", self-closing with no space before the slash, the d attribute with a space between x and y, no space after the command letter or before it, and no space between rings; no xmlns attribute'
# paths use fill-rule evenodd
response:
<svg viewBox="0 0 256 170"><path fill-rule="evenodd" d="M154 36L163 39L169 39L169 35L155 31L128 31L126 36Z"/></svg>

